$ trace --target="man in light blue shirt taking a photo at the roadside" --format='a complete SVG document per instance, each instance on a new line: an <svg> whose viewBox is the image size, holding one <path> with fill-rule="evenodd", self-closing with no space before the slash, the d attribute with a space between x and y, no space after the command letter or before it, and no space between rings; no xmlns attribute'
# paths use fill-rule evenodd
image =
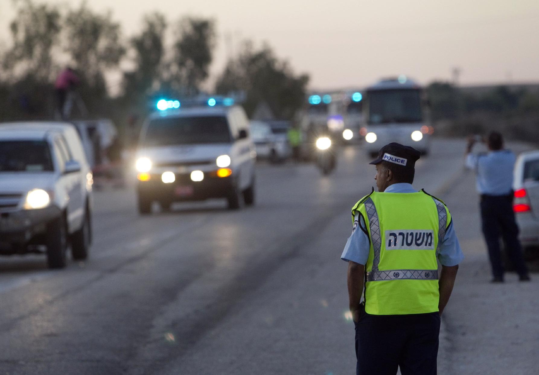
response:
<svg viewBox="0 0 539 375"><path fill-rule="evenodd" d="M493 283L503 282L500 236L506 244L507 254L519 273L520 281L529 281L528 269L522 256L519 227L513 212L513 167L515 154L503 149L500 133L488 135L486 154L473 154L475 137L468 138L466 167L477 174L477 190L481 194L481 221L483 235L492 267Z"/></svg>

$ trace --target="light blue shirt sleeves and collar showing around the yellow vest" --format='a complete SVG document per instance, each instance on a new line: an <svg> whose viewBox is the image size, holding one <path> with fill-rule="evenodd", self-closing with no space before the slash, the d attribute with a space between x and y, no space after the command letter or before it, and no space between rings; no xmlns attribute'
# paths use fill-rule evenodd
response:
<svg viewBox="0 0 539 375"><path fill-rule="evenodd" d="M393 183L393 185L385 189L385 193L417 193L417 190L410 183ZM367 228L361 215L360 225L365 229ZM358 227L348 238L342 251L341 259L365 265L369 258L369 251L369 236ZM453 228L453 220L451 220L451 224L449 224L449 228L445 233L444 241L441 244L438 260L442 265L450 267L459 264L463 259L464 254L462 254L457 233Z"/></svg>

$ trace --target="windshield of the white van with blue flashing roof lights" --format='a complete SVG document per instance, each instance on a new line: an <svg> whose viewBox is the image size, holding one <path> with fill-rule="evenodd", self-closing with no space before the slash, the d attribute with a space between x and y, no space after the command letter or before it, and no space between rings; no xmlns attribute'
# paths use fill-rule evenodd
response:
<svg viewBox="0 0 539 375"><path fill-rule="evenodd" d="M150 121L143 145L230 143L231 140L229 125L224 116L169 117Z"/></svg>

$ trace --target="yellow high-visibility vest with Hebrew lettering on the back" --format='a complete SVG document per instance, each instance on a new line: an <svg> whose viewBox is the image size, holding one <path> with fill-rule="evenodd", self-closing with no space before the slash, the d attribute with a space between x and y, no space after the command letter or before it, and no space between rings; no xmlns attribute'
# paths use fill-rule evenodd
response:
<svg viewBox="0 0 539 375"><path fill-rule="evenodd" d="M424 190L373 192L352 208L354 227L359 215L370 238L365 312L404 315L438 311L437 256L451 223L444 202Z"/></svg>

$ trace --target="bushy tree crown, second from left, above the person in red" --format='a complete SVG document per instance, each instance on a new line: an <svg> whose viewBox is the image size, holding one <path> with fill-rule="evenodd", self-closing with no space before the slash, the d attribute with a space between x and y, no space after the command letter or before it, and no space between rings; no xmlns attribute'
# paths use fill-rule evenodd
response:
<svg viewBox="0 0 539 375"><path fill-rule="evenodd" d="M120 24L112 21L110 12L94 13L86 2L67 12L65 19L66 52L89 86L105 85L103 74L118 67L125 54L120 42Z"/></svg>

